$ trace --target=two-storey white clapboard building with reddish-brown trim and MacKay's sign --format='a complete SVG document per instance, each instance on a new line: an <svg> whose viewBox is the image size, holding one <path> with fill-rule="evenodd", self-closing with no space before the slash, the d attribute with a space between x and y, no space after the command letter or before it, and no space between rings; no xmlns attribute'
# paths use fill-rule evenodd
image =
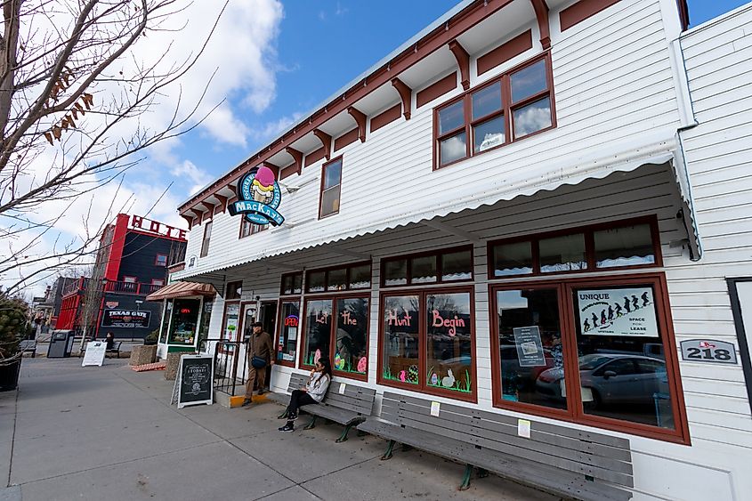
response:
<svg viewBox="0 0 752 501"><path fill-rule="evenodd" d="M748 498L752 4L687 19L458 4L185 201L174 279L220 291L210 339L273 330L273 391L326 355L376 414L598 432L635 499Z"/></svg>

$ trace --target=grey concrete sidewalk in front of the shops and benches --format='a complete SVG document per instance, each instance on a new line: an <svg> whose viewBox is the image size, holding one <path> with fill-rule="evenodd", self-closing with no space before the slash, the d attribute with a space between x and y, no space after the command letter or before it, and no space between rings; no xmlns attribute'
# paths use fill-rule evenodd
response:
<svg viewBox="0 0 752 501"><path fill-rule="evenodd" d="M0 501L555 499L496 476L459 492L464 466L416 450L380 461L384 440L336 444L337 425L278 432L272 403L177 410L163 371L105 363L23 360L19 392L0 393Z"/></svg>

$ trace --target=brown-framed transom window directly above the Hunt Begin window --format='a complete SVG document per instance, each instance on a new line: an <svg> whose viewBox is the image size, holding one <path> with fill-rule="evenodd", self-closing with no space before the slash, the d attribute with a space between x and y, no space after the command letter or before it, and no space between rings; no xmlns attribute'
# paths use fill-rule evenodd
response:
<svg viewBox="0 0 752 501"><path fill-rule="evenodd" d="M473 279L473 247L400 255L381 262L381 286L445 284Z"/></svg>

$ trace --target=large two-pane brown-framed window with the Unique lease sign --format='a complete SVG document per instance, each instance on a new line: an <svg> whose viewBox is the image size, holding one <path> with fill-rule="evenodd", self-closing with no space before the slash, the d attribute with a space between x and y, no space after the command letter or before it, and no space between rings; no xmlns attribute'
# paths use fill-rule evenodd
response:
<svg viewBox="0 0 752 501"><path fill-rule="evenodd" d="M662 273L489 289L496 407L688 442Z"/></svg>

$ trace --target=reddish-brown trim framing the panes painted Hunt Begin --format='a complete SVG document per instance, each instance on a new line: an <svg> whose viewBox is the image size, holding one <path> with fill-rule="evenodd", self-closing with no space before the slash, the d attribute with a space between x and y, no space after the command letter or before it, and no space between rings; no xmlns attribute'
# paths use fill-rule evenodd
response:
<svg viewBox="0 0 752 501"><path fill-rule="evenodd" d="M399 388L400 390L408 390L410 392L423 393L425 395L432 395L435 397L444 397L451 400L461 400L470 403L478 403L478 369L477 369L477 342L478 336L476 333L475 322L475 287L473 284L463 285L459 287L410 287L401 290L389 290L379 291L379 304L378 304L378 344L376 355L376 384L389 386L392 388ZM435 294L462 294L466 293L470 295L470 337L471 337L471 371L470 376L473 384L473 391L470 393L453 392L451 390L444 390L443 388L433 388L428 386L425 381L425 365L427 352L427 335L428 326L427 319L425 318L425 311L421 311L418 323L418 373L423 375L423 381L418 377L418 384L408 384L397 381L391 381L384 379L384 304L385 298L390 296L401 295L417 295L419 297L420 307L423 308L425 304L426 295Z"/></svg>

